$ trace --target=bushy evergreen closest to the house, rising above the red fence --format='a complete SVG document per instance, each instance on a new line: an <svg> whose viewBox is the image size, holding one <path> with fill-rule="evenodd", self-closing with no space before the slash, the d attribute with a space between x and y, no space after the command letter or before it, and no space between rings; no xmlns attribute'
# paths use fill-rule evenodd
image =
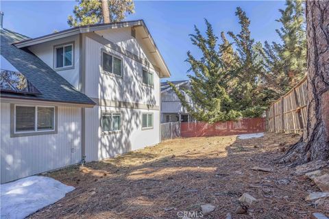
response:
<svg viewBox="0 0 329 219"><path fill-rule="evenodd" d="M202 36L195 26L195 34L191 34L192 43L202 51L200 59L195 58L190 51L187 53L187 62L191 65L188 75L191 79L191 90L178 90L169 83L178 95L182 105L197 120L215 123L224 120L234 120L241 114L232 110L232 100L226 92L226 81L229 71L221 61L221 49L217 44L217 36L213 33L212 26L206 22L206 36ZM223 49L223 47L222 47ZM184 93L191 97L194 107L186 103Z"/></svg>

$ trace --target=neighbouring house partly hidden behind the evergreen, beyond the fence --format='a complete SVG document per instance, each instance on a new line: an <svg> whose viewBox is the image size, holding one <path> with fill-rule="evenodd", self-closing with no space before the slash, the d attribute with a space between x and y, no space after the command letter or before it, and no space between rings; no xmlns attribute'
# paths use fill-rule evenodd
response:
<svg viewBox="0 0 329 219"><path fill-rule="evenodd" d="M171 81L179 90L182 88L189 89L191 84L188 80L185 81ZM184 93L184 92L183 92ZM193 106L191 98L185 94L188 104ZM167 82L161 83L161 123L171 122L193 122L195 119L189 114L185 107L180 103L180 99L175 94L171 86Z"/></svg>

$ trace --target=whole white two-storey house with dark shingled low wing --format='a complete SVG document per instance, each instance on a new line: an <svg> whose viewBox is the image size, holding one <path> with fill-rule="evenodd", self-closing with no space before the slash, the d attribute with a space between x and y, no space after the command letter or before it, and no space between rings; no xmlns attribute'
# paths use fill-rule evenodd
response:
<svg viewBox="0 0 329 219"><path fill-rule="evenodd" d="M1 183L160 142L170 73L143 20L1 29L1 68Z"/></svg>

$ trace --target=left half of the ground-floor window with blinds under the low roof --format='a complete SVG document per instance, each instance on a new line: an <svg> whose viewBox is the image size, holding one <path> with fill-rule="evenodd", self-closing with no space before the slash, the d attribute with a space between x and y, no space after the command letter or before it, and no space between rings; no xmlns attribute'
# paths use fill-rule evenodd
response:
<svg viewBox="0 0 329 219"><path fill-rule="evenodd" d="M35 107L16 106L16 131L34 131L36 125Z"/></svg>

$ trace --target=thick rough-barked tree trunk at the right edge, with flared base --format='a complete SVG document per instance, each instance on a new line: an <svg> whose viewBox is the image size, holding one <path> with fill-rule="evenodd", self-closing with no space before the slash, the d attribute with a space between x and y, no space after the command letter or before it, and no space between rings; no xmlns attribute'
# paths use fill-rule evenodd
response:
<svg viewBox="0 0 329 219"><path fill-rule="evenodd" d="M329 1L306 2L307 124L280 162L329 160Z"/></svg>

